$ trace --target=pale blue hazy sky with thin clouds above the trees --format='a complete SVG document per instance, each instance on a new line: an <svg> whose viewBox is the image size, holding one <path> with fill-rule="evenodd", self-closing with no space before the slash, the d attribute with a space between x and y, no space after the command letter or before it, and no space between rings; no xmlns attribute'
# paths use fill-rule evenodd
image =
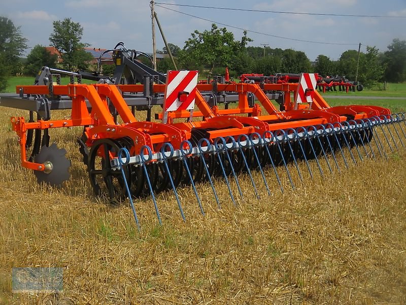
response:
<svg viewBox="0 0 406 305"><path fill-rule="evenodd" d="M327 55L333 60L338 59L344 51L358 49L358 43L362 44L361 51L364 52L368 45L385 51L394 38L406 40L406 18L292 15L178 6L406 16L406 0L155 0L155 2L177 4L176 6L159 4L155 9L166 40L181 48L194 30L210 29L212 22L168 9L262 33L248 32L248 37L253 39L249 46L268 44L272 48L291 48L304 51L311 60L315 60L319 54ZM53 31L52 21L68 17L83 26L82 41L91 47L109 49L122 41L128 49L152 52L150 0L0 0L0 16L8 17L16 26L21 26L21 33L28 39L30 48L37 44L48 46L49 35ZM224 25L219 24L219 27ZM234 34L236 40L241 39L242 29L226 27ZM156 32L157 49L160 50L164 47L164 43L157 26ZM313 42L300 42L272 35Z"/></svg>

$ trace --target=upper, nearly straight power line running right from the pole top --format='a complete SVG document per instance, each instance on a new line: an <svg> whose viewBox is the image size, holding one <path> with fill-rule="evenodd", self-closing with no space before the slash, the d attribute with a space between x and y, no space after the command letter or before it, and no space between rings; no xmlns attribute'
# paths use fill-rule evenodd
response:
<svg viewBox="0 0 406 305"><path fill-rule="evenodd" d="M290 15L313 15L313 16L315 15L315 16L334 16L334 17L370 17L370 18L406 18L406 16L323 14L323 13L302 13L302 12L267 11L267 10L252 10L252 9L235 9L235 8L224 8L224 7L209 7L209 6L187 5L187 4L161 3L161 2L155 2L155 4L172 5L172 6L189 7L189 8L200 8L200 9L275 13L275 14L290 14Z"/></svg>

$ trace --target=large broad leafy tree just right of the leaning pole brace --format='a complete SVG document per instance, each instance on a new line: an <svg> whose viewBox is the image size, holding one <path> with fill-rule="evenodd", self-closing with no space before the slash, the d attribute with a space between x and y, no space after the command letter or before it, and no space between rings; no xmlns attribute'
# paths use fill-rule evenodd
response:
<svg viewBox="0 0 406 305"><path fill-rule="evenodd" d="M218 28L212 24L210 31L194 31L185 42L185 46L179 52L181 63L186 68L196 68L204 65L212 71L214 67L230 66L235 54L244 50L247 43L252 41L247 37L247 32L241 41L234 40L234 35L227 31L227 28Z"/></svg>

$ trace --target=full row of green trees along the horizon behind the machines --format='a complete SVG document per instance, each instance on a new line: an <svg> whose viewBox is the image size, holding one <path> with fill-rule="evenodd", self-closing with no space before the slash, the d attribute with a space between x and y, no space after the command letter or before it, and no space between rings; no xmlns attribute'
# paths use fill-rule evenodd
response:
<svg viewBox="0 0 406 305"><path fill-rule="evenodd" d="M84 51L83 48L89 45L82 42L82 36L83 27L71 18L53 22L49 41L61 54L62 68L69 71L89 68L88 62L92 56ZM225 67L228 67L233 77L244 73L274 75L314 72L324 77L339 75L355 80L359 63L358 81L366 87L382 81L406 81L406 41L399 39L394 39L384 52L375 46L367 46L366 52L359 54L357 50L347 50L338 60L320 54L314 63L302 51L247 46L249 42L252 39L247 36L247 32L243 33L240 40L236 40L227 28L212 24L208 30L191 33L183 48L171 43L168 48L176 57L178 69L197 69L213 75L224 74ZM52 55L42 45L33 47L26 60L22 61L26 43L20 27L15 26L10 19L0 17L0 92L6 87L11 75L36 75L43 66L56 67L57 55ZM158 52L167 53L168 50L163 48ZM140 59L150 64L149 59ZM108 68L112 67L106 67L106 72L109 70L111 73ZM157 63L158 71L171 69L173 65L169 58Z"/></svg>

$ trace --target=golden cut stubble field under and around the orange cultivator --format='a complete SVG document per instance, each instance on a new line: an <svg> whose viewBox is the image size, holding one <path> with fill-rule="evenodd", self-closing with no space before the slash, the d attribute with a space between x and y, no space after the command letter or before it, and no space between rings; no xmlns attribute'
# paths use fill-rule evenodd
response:
<svg viewBox="0 0 406 305"><path fill-rule="evenodd" d="M406 101L393 103L406 110ZM171 192L157 195L162 226L151 198L136 200L139 233L128 202L92 197L76 145L80 129L50 133L72 160L71 180L62 189L37 185L20 166L9 124L20 114L0 113L0 303L406 302L406 149L399 138L393 153L385 144L387 159L376 146L376 159L363 161L353 149L355 165L347 149L346 169L337 155L341 173L320 160L322 177L312 161L313 180L304 162L303 182L290 165L294 190L280 167L284 193L272 169L265 170L270 196L254 172L260 199L242 174L237 206L222 179L215 181L221 209L210 184L198 185L206 216L192 190L180 189L186 222ZM12 268L36 266L63 267L63 292L12 293Z"/></svg>

